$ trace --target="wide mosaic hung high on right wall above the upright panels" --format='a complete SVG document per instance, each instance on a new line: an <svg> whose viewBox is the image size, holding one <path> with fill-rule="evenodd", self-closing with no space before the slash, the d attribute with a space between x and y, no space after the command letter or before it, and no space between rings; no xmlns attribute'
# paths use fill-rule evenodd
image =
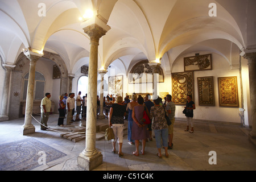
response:
<svg viewBox="0 0 256 182"><path fill-rule="evenodd" d="M212 70L212 54L184 57L184 71Z"/></svg>

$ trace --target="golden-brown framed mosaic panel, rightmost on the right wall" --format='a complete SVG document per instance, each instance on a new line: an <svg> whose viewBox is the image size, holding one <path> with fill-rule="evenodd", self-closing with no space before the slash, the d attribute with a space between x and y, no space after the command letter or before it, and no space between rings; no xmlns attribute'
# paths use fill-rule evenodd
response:
<svg viewBox="0 0 256 182"><path fill-rule="evenodd" d="M237 77L218 77L219 105L239 107Z"/></svg>

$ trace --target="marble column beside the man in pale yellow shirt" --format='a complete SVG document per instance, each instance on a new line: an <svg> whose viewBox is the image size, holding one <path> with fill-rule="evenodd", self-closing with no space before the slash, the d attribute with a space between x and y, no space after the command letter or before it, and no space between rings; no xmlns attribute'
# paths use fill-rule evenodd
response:
<svg viewBox="0 0 256 182"><path fill-rule="evenodd" d="M35 126L32 125L32 111L33 111L33 101L34 101L34 85L35 85L35 68L36 68L36 61L40 59L43 55L39 53L34 53L29 51L26 53L27 59L30 61L30 74L28 76L28 86L27 86L27 100L26 100L26 112L25 112L25 119L24 125L20 129L20 133L23 135L35 133Z"/></svg>

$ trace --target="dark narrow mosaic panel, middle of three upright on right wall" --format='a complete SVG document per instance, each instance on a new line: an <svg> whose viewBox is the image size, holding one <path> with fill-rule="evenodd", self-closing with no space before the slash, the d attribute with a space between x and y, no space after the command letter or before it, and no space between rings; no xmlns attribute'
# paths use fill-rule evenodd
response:
<svg viewBox="0 0 256 182"><path fill-rule="evenodd" d="M198 77L197 86L199 105L215 106L213 77Z"/></svg>

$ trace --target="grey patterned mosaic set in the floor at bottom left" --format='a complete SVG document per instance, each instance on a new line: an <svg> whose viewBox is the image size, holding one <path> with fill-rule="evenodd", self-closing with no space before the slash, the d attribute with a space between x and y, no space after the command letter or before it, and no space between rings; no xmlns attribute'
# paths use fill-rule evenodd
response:
<svg viewBox="0 0 256 182"><path fill-rule="evenodd" d="M5 143L0 145L0 171L29 171L64 156L33 138Z"/></svg>

